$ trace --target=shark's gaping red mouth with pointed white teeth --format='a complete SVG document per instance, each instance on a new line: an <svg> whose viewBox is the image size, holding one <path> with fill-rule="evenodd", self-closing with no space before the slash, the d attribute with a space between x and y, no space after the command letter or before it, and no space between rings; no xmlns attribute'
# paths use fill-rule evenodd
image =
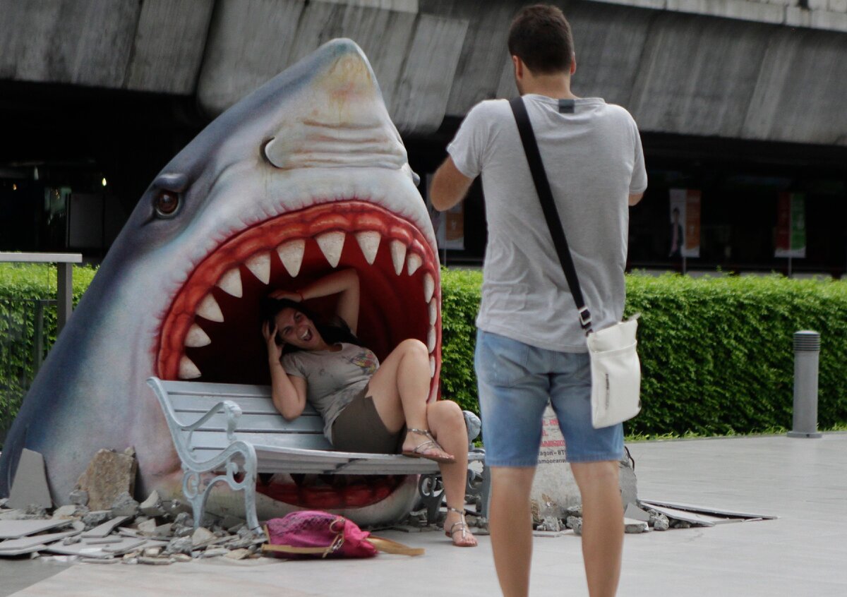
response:
<svg viewBox="0 0 847 597"><path fill-rule="evenodd" d="M165 313L155 349L157 375L269 384L260 301L271 290L299 290L334 268L358 272L358 335L377 357L384 359L407 338L427 345L434 397L440 369L437 257L407 218L355 196L269 218L208 254ZM308 306L329 316L335 298ZM274 475L257 491L295 506L361 507L385 499L402 480L335 477Z"/></svg>

